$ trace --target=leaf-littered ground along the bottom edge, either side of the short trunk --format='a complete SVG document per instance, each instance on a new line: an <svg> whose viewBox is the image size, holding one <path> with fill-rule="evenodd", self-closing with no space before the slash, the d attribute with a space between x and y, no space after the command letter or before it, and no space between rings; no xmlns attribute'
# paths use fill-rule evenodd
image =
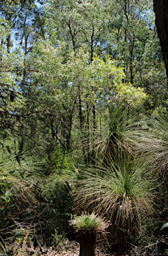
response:
<svg viewBox="0 0 168 256"><path fill-rule="evenodd" d="M62 247L37 247L34 249L33 243L31 247L27 247L26 241L23 243L22 247L19 247L19 243L15 243L15 249L13 250L13 255L17 256L79 256L80 254L80 245L76 241L69 241L66 239L66 242ZM13 247L13 245L11 245ZM10 246L9 246L10 247ZM129 249L121 251L121 249L110 249L109 247L96 247L96 256L141 256L141 255L168 255L168 235L162 235L155 243L149 245L130 245Z"/></svg>

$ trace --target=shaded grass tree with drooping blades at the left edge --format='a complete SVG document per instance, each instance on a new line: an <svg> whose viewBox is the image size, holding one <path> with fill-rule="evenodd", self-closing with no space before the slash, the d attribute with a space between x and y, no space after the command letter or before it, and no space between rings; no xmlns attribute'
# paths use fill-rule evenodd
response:
<svg viewBox="0 0 168 256"><path fill-rule="evenodd" d="M19 152L17 142L9 135L0 144L1 199L8 203L13 198L15 204L38 203L41 170L37 159L25 151Z"/></svg>

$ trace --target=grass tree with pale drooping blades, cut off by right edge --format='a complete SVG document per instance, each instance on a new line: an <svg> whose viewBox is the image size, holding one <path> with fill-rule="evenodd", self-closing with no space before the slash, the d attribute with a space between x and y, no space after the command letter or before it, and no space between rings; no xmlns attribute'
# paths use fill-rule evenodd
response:
<svg viewBox="0 0 168 256"><path fill-rule="evenodd" d="M139 143L139 151L143 153L149 165L153 165L153 174L159 175L168 191L168 114L155 111L155 115L147 122L149 133Z"/></svg>

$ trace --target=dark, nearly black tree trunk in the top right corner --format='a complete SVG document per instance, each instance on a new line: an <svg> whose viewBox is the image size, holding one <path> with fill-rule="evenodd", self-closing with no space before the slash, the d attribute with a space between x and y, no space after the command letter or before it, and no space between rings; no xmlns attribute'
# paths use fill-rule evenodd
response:
<svg viewBox="0 0 168 256"><path fill-rule="evenodd" d="M153 0L155 24L161 43L161 51L168 77L168 0Z"/></svg>

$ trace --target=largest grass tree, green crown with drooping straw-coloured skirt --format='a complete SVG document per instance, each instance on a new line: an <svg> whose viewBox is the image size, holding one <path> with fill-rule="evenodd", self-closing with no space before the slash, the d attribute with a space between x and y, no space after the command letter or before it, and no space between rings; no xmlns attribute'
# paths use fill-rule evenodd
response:
<svg viewBox="0 0 168 256"><path fill-rule="evenodd" d="M107 217L116 232L141 231L141 216L151 214L156 181L145 164L120 153L116 161L86 169L76 188L76 211L95 211ZM120 234L121 235L121 234Z"/></svg>

